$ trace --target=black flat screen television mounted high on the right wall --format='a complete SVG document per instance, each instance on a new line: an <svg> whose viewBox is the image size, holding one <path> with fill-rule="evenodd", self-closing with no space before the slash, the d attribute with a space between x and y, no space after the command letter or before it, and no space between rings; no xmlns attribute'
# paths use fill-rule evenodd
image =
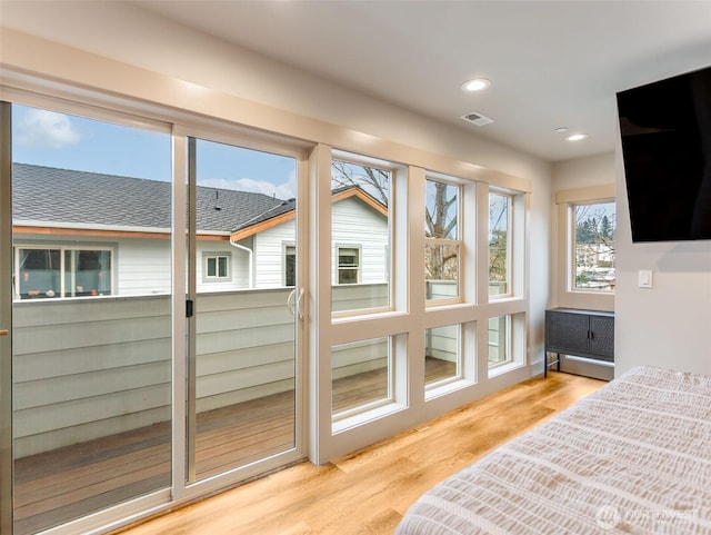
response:
<svg viewBox="0 0 711 535"><path fill-rule="evenodd" d="M617 100L632 241L711 239L711 67Z"/></svg>

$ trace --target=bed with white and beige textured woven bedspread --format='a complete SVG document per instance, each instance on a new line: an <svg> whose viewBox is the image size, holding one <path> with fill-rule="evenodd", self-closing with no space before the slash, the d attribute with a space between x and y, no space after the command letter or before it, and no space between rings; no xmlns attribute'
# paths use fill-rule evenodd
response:
<svg viewBox="0 0 711 535"><path fill-rule="evenodd" d="M423 494L397 535L711 534L711 376L638 367Z"/></svg>

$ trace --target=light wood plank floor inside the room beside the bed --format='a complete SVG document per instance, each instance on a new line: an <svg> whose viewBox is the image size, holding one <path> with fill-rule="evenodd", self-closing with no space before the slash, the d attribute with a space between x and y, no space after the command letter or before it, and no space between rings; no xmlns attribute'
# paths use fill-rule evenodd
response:
<svg viewBox="0 0 711 535"><path fill-rule="evenodd" d="M302 463L121 533L390 535L424 491L602 385L553 371L331 464Z"/></svg>

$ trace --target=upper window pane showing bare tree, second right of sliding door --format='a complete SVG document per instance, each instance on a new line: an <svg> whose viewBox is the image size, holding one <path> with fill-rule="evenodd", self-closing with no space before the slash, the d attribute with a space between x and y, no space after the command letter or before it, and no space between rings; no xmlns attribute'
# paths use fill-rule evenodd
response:
<svg viewBox="0 0 711 535"><path fill-rule="evenodd" d="M424 220L424 281L429 300L459 299L461 242L460 187L427 180Z"/></svg>

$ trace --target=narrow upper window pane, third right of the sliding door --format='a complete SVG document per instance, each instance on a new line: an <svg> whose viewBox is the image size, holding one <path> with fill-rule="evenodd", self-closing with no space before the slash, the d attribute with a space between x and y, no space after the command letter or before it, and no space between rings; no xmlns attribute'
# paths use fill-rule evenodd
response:
<svg viewBox="0 0 711 535"><path fill-rule="evenodd" d="M511 294L511 205L505 194L489 194L489 296Z"/></svg>

